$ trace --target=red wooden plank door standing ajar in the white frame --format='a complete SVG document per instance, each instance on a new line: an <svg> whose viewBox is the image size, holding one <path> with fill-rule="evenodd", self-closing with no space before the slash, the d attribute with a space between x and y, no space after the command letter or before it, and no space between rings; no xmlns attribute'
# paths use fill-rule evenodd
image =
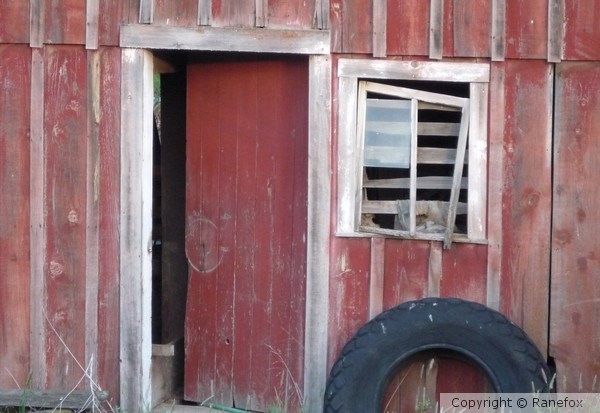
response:
<svg viewBox="0 0 600 413"><path fill-rule="evenodd" d="M185 398L295 411L304 364L308 63L193 64L187 91Z"/></svg>

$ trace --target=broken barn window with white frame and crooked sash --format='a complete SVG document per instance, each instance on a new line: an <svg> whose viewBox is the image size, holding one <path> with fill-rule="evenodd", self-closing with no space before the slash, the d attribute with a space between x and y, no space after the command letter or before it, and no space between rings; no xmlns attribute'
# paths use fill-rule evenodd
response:
<svg viewBox="0 0 600 413"><path fill-rule="evenodd" d="M482 242L485 64L340 59L338 235Z"/></svg>

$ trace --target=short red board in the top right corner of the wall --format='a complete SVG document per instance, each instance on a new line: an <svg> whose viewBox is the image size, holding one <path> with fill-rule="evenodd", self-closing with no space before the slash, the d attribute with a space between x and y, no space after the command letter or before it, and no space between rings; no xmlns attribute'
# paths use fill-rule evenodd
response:
<svg viewBox="0 0 600 413"><path fill-rule="evenodd" d="M600 59L600 4L595 1L565 1L564 58Z"/></svg>

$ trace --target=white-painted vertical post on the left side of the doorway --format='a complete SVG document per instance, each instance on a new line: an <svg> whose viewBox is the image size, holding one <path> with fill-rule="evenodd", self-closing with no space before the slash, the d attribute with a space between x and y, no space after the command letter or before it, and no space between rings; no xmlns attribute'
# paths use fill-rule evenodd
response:
<svg viewBox="0 0 600 413"><path fill-rule="evenodd" d="M149 411L152 358L153 58L121 52L121 408Z"/></svg>

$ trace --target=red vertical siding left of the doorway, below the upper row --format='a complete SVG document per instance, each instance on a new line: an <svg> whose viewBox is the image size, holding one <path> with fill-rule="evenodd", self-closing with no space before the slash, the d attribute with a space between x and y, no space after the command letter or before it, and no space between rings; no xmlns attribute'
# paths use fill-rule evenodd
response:
<svg viewBox="0 0 600 413"><path fill-rule="evenodd" d="M0 54L0 388L24 387L31 372L32 389L66 392L93 358L114 397L120 50Z"/></svg>

